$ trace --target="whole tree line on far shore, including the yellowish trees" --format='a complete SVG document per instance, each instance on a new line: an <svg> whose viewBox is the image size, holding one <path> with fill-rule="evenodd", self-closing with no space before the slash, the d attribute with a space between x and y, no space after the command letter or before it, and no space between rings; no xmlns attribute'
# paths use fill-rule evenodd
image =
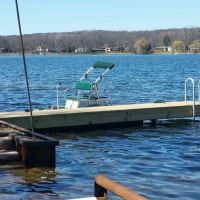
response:
<svg viewBox="0 0 200 200"><path fill-rule="evenodd" d="M41 51L71 53L109 47L111 51L148 53L159 46L172 46L174 51L200 49L200 27L154 31L106 31L84 30L63 33L35 33L23 35L25 52ZM1 52L21 52L20 37L0 36Z"/></svg>

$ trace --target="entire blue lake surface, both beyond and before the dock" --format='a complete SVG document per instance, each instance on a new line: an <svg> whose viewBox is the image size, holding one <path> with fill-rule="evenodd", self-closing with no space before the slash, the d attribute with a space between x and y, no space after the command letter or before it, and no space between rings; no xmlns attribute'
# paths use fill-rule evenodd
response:
<svg viewBox="0 0 200 200"><path fill-rule="evenodd" d="M187 78L198 100L200 55L26 56L33 108L65 103L96 61L115 67L103 82L114 105L184 100ZM21 56L0 56L0 112L28 109ZM94 73L94 77L98 74ZM188 83L188 98L192 99ZM60 140L55 168L0 165L0 199L70 199L93 196L93 180L102 174L148 199L199 199L200 122L145 121L141 127L46 132ZM195 137L194 137L195 135ZM109 199L119 199L109 193Z"/></svg>

